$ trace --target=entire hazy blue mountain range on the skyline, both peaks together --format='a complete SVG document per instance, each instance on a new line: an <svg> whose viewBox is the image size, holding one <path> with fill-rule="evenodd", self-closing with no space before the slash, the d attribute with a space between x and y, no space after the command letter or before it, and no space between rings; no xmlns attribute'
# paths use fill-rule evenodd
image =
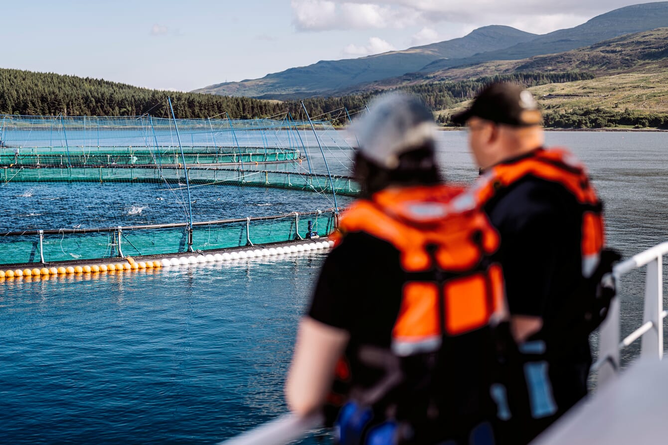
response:
<svg viewBox="0 0 668 445"><path fill-rule="evenodd" d="M276 99L341 96L369 90L376 84L387 84L382 82L386 79L395 78L390 83L401 84L405 79L399 81L396 78L403 75L406 79L430 77L432 73L442 73L453 67L561 53L619 35L666 26L668 1L643 3L615 9L582 25L543 35L492 25L458 39L359 59L319 61L261 79L226 82L195 92Z"/></svg>

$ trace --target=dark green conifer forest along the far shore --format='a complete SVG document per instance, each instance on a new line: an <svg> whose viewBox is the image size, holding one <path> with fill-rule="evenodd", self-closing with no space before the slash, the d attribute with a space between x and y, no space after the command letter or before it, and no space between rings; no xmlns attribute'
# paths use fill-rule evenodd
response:
<svg viewBox="0 0 668 445"><path fill-rule="evenodd" d="M535 86L554 82L571 82L593 78L591 73L512 73L486 76L457 82L430 82L401 86L424 100L432 110L443 110L476 96L486 84L495 81L517 82ZM355 118L366 104L384 90L347 96L315 97L303 100L314 118L331 120L335 125ZM227 113L230 118L253 119L279 116L290 112L295 119L305 119L301 101L280 102L253 98L215 96L184 92L166 92L55 73L35 73L19 69L0 69L0 114L40 116L152 116L169 117L166 96L172 98L177 118L207 118ZM552 122L552 121L550 121ZM560 121L554 121L560 122ZM446 124L447 122L442 122Z"/></svg>

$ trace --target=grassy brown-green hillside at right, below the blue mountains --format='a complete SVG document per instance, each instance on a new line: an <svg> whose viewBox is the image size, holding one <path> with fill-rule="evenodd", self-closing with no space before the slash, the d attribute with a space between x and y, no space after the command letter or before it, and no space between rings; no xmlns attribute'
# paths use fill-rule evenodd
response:
<svg viewBox="0 0 668 445"><path fill-rule="evenodd" d="M600 107L665 114L668 113L668 28L618 37L566 53L450 69L441 73L439 79L459 80L516 71L597 74L592 80L530 88L547 110L570 112L574 108ZM463 102L438 114L453 114L468 104Z"/></svg>

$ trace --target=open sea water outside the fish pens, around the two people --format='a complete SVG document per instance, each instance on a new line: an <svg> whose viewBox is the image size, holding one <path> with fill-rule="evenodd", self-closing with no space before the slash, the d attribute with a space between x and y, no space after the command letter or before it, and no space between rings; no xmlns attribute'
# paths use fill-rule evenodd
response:
<svg viewBox="0 0 668 445"><path fill-rule="evenodd" d="M472 182L466 134L440 138L446 177ZM667 140L649 132L547 134L548 145L571 148L589 166L605 200L608 243L625 256L668 239ZM138 185L113 184L128 193ZM30 185L23 186L12 192L24 194ZM286 412L297 322L325 255L1 283L0 443L207 444ZM541 255L537 246L527 261ZM623 280L623 332L639 325L643 282L640 272Z"/></svg>

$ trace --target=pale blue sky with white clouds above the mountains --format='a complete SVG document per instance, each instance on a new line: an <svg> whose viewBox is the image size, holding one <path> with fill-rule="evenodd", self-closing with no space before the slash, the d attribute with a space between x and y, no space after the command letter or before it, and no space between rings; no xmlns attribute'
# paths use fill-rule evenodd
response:
<svg viewBox="0 0 668 445"><path fill-rule="evenodd" d="M0 67L160 90L462 37L573 27L638 0L0 0Z"/></svg>

